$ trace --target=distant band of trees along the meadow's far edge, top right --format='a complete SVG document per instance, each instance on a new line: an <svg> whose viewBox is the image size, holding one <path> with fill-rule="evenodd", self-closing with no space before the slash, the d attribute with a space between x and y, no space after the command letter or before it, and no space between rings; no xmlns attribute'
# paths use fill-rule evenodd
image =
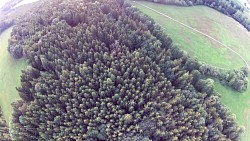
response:
<svg viewBox="0 0 250 141"><path fill-rule="evenodd" d="M250 31L250 18L246 13L244 7L239 5L234 0L146 0L151 2L157 2L162 4L171 4L179 6L194 6L205 5L215 10L222 12L240 24L242 24L248 31Z"/></svg>

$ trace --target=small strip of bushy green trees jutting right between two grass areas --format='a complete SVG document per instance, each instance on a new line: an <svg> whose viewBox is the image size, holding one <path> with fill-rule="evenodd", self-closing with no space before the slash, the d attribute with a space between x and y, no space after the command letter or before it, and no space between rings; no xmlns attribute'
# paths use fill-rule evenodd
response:
<svg viewBox="0 0 250 141"><path fill-rule="evenodd" d="M199 71L206 76L217 78L222 84L225 84L236 91L243 92L248 85L248 70L223 70L210 65L201 65Z"/></svg>

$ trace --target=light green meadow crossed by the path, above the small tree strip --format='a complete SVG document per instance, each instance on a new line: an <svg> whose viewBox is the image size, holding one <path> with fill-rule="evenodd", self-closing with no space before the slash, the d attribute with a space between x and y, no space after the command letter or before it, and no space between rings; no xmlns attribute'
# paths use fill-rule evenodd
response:
<svg viewBox="0 0 250 141"><path fill-rule="evenodd" d="M248 55L250 36L247 34L247 30L232 18L205 6L178 7L149 2L140 3L215 37L238 51L250 63ZM180 44L182 49L190 55L196 56L200 61L227 69L232 66L234 68L244 66L244 62L239 56L218 43L136 3L133 5L162 25L175 43Z"/></svg>

